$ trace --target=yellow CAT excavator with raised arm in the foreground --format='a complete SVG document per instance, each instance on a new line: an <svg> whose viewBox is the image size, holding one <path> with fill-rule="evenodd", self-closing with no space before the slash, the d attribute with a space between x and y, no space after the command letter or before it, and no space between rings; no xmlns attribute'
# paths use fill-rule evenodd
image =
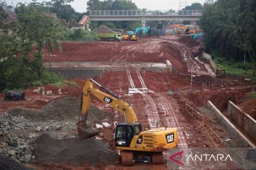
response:
<svg viewBox="0 0 256 170"><path fill-rule="evenodd" d="M143 131L142 124L137 122L137 115L132 106L93 79L87 79L82 89L81 116L78 121L80 138L93 137L99 133L86 125L92 96L110 104L110 107L119 113L124 113L126 123L116 124L114 135L115 147L120 150L123 166L132 166L134 160L142 157L149 158L151 164L164 164L163 152L177 147L177 128L166 127Z"/></svg>

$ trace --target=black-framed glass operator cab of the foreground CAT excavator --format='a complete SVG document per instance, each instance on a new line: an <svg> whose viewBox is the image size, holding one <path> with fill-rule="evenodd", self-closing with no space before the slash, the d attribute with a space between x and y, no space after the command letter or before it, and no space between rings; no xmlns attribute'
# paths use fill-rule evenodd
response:
<svg viewBox="0 0 256 170"><path fill-rule="evenodd" d="M140 123L128 124L121 123L117 125L115 132L115 146L116 147L130 147L134 135L139 135L142 132L142 125Z"/></svg>

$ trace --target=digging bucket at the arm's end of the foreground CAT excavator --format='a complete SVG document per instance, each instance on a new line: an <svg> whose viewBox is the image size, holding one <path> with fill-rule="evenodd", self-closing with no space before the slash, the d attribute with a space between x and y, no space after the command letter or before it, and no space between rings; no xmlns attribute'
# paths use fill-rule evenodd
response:
<svg viewBox="0 0 256 170"><path fill-rule="evenodd" d="M78 124L78 137L80 139L87 139L90 137L94 137L95 135L98 135L100 133L100 131L97 131L93 128L91 128L88 125L79 125Z"/></svg>

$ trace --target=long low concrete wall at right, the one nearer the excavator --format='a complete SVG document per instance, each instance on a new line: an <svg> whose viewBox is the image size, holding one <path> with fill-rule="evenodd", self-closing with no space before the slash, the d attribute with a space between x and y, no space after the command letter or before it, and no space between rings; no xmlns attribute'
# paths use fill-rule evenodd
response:
<svg viewBox="0 0 256 170"><path fill-rule="evenodd" d="M223 115L223 113L221 113L218 108L213 105L213 103L208 101L207 108L210 109L212 114L215 115L218 121L220 121L220 124L226 128L230 136L238 140L240 147L255 147L255 145L250 142L245 135L242 135L238 128L235 128L235 125L230 123L230 120L228 120L228 118L226 118L225 115Z"/></svg>

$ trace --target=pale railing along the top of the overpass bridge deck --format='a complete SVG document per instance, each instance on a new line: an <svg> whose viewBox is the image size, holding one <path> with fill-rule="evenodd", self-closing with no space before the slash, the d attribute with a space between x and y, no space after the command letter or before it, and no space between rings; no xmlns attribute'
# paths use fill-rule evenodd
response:
<svg viewBox="0 0 256 170"><path fill-rule="evenodd" d="M90 11L90 16L202 16L202 10L146 11L146 10L101 10Z"/></svg>

